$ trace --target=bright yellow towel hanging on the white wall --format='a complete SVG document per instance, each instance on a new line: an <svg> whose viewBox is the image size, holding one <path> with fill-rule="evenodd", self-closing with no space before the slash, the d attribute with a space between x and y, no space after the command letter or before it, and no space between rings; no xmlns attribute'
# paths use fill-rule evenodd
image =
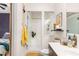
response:
<svg viewBox="0 0 79 59"><path fill-rule="evenodd" d="M28 44L28 28L26 25L23 25L22 28L22 40L21 40L22 46L25 46Z"/></svg>

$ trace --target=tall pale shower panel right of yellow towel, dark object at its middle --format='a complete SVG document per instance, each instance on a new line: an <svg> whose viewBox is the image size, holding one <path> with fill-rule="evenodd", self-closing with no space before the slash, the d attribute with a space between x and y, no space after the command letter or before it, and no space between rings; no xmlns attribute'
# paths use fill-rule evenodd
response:
<svg viewBox="0 0 79 59"><path fill-rule="evenodd" d="M42 40L42 19L40 12L30 12L30 50L39 51L41 49ZM32 34L36 35L32 37Z"/></svg>

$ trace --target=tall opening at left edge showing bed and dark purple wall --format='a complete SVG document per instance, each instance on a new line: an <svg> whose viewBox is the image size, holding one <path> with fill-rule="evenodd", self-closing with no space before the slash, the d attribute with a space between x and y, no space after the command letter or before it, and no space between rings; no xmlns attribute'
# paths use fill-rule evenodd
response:
<svg viewBox="0 0 79 59"><path fill-rule="evenodd" d="M0 56L11 55L11 4L0 3Z"/></svg>

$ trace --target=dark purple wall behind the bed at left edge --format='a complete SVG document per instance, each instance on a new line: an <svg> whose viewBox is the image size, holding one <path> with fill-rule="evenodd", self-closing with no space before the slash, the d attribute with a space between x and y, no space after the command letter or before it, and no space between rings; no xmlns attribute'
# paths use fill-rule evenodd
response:
<svg viewBox="0 0 79 59"><path fill-rule="evenodd" d="M0 38L9 32L9 13L0 13Z"/></svg>

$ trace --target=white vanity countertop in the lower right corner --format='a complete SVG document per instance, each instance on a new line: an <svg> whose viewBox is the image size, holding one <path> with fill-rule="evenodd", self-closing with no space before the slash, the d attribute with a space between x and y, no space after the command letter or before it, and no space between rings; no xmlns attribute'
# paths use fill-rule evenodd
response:
<svg viewBox="0 0 79 59"><path fill-rule="evenodd" d="M60 43L49 42L50 47L55 51L58 56L79 56L78 48L70 48L61 45Z"/></svg>

